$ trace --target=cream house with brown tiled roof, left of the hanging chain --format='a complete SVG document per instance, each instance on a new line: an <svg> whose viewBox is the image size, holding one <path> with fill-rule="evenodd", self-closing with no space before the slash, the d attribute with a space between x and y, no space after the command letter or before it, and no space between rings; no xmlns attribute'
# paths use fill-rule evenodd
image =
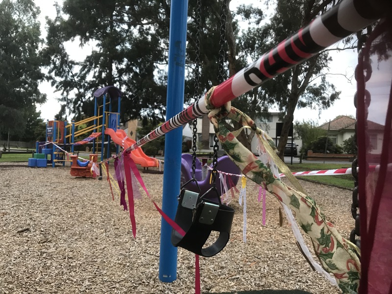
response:
<svg viewBox="0 0 392 294"><path fill-rule="evenodd" d="M340 115L331 122L321 124L319 128L328 130L328 124L328 139L330 139L334 144L343 146L343 141L354 135L355 119L349 116Z"/></svg>

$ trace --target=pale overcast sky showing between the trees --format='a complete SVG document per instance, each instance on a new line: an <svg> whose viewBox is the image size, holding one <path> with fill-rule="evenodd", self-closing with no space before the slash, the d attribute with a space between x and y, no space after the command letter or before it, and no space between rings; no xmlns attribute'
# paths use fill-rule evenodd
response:
<svg viewBox="0 0 392 294"><path fill-rule="evenodd" d="M54 3L51 0L34 0L35 4L40 7L41 15L41 32L42 37L45 37L45 16L49 16L49 18L54 18L56 13L54 6L49 3ZM62 0L58 0L58 2L62 2ZM232 0L231 7L235 7L238 3L244 3L244 0ZM260 3L260 2L259 2ZM77 42L66 44L66 48L70 56L75 60L83 60L85 55L81 54L81 50L78 49ZM309 108L305 109L296 109L294 113L294 121L302 120L314 120L318 121L320 124L328 122L329 120L333 120L338 115L352 115L355 117L355 107L353 104L353 96L356 91L356 82L354 80L353 72L355 65L357 63L357 52L356 50L343 50L343 51L331 51L331 56L333 57L333 61L330 63L330 75L328 75L328 81L336 86L338 91L341 91L340 99L334 103L332 107L327 110L322 110L320 115L318 110L312 110ZM384 71L389 72L391 74L391 67L389 68L381 68ZM373 68L373 71L376 69ZM351 78L351 82L347 80L343 75ZM388 76L390 78L390 75ZM385 74L379 75L379 80L377 82L377 89L375 90L375 95L378 95L379 98L384 97L387 93L389 93L389 83ZM369 87L368 87L369 89ZM38 110L41 111L41 117L45 120L53 120L54 115L58 113L60 110L60 106L58 102L55 100L56 97L59 97L59 93L55 93L54 89L47 82L43 82L40 85L40 91L42 93L46 93L48 96L48 101L38 107ZM371 89L370 89L371 92ZM274 111L271 109L271 111ZM374 118L375 122L382 123L382 119L380 117ZM385 118L384 118L385 119Z"/></svg>

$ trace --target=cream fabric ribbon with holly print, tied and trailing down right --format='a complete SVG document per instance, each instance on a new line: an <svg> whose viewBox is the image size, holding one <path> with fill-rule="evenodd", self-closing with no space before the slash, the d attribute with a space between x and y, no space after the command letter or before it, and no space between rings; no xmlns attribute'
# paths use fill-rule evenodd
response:
<svg viewBox="0 0 392 294"><path fill-rule="evenodd" d="M361 275L360 261L357 255L357 253L359 254L358 247L339 234L333 224L327 221L316 201L303 191L298 180L276 155L275 144L268 134L257 128L247 115L231 107L230 102L219 109L214 109L214 106L209 103L209 97L212 93L213 89L206 94L206 105L212 109L208 117L213 123L215 133L227 155L246 177L263 185L280 202L294 211L298 224L312 239L315 253L322 267L335 276L343 293L358 293ZM228 122L226 120L236 121L243 127L236 131L230 131L227 128ZM261 161L238 141L237 135L245 128L256 132L262 144L261 147L268 154L269 160ZM274 164L285 173L294 188L283 183L279 175L276 176Z"/></svg>

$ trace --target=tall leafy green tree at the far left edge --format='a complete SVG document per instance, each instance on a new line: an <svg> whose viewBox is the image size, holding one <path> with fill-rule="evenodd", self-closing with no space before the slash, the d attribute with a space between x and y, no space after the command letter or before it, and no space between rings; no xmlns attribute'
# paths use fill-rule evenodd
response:
<svg viewBox="0 0 392 294"><path fill-rule="evenodd" d="M39 9L32 0L0 2L0 134L22 134L35 104L41 72Z"/></svg>

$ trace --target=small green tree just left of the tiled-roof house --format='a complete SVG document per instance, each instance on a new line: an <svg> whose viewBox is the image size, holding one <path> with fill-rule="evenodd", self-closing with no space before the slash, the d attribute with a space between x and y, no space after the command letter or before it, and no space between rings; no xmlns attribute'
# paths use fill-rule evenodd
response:
<svg viewBox="0 0 392 294"><path fill-rule="evenodd" d="M310 150L310 145L313 141L321 136L325 136L327 131L317 126L317 122L303 120L302 123L296 121L294 123L294 136L302 140L302 147L299 150L300 153L306 154Z"/></svg>

